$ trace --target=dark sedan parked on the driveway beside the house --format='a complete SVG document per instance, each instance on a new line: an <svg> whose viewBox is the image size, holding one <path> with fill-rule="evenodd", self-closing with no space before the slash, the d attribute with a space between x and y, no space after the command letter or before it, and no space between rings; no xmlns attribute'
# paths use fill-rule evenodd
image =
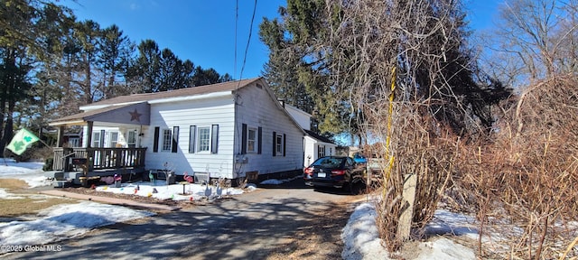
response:
<svg viewBox="0 0 578 260"><path fill-rule="evenodd" d="M365 186L365 168L347 156L325 156L303 169L303 181L313 187L345 188L359 194Z"/></svg>

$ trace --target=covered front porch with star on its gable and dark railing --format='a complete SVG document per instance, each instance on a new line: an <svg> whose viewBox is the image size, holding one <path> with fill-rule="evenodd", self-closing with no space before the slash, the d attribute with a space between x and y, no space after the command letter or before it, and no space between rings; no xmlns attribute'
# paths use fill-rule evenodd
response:
<svg viewBox="0 0 578 260"><path fill-rule="evenodd" d="M102 107L52 121L50 125L58 126L52 171L82 172L84 177L144 172L146 147L140 146L140 136L143 126L149 125L149 111L150 106L141 102ZM66 128L73 125L82 126L82 147L64 143ZM105 142L105 131L99 127L117 130Z"/></svg>

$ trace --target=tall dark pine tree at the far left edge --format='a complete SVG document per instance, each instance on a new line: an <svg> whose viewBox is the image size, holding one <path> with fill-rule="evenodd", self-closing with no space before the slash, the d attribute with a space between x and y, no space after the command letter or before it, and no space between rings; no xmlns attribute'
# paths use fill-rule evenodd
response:
<svg viewBox="0 0 578 260"><path fill-rule="evenodd" d="M33 64L47 60L55 42L47 34L65 23L69 10L34 0L0 3L0 149L13 135L14 115L19 103L30 96Z"/></svg>

